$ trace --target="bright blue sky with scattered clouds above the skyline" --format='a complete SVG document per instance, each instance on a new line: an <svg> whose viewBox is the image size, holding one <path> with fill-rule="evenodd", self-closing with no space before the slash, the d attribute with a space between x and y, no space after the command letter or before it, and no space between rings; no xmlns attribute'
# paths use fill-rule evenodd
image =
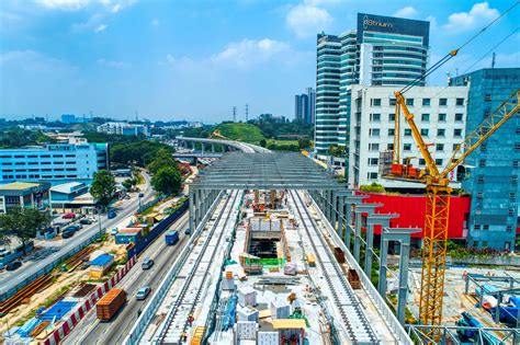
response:
<svg viewBox="0 0 520 345"><path fill-rule="evenodd" d="M428 20L430 60L457 47L515 0L2 0L0 116L63 113L215 123L293 117L315 85L316 34L355 27L358 12ZM520 5L430 78L466 71L498 46L520 67ZM516 32L515 32L516 30ZM490 66L486 56L476 66Z"/></svg>

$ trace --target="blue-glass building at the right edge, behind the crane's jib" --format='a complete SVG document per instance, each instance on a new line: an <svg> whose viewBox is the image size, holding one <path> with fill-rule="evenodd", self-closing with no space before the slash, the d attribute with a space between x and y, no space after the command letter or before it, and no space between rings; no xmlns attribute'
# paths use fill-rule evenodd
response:
<svg viewBox="0 0 520 345"><path fill-rule="evenodd" d="M520 68L482 69L453 78L450 84L470 88L466 133L471 133L520 89ZM512 250L520 198L520 118L504 124L465 164L471 172L462 187L472 197L468 245Z"/></svg>

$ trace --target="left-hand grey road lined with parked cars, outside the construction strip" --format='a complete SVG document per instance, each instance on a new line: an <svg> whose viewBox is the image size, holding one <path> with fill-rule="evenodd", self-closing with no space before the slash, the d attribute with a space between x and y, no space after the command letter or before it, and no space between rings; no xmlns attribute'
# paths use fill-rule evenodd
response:
<svg viewBox="0 0 520 345"><path fill-rule="evenodd" d="M150 187L150 177L143 173L143 176L146 181L146 191L143 192L145 195L142 197L142 203L147 203L152 199L154 192ZM101 227L111 229L121 222L124 218L133 215L139 206L138 197L134 197L127 202L123 208L116 209L117 217L113 219L108 219L106 216L101 217ZM67 242L55 253L41 258L36 262L30 262L24 264L22 267L14 272L2 272L0 273L0 296L19 285L20 283L26 280L32 275L37 273L39 269L44 268L52 262L56 261L58 257L70 252L74 248L78 246L80 243L84 242L88 238L92 237L95 232L99 231L99 222L95 222L89 227L83 227L78 231L72 238L68 239Z"/></svg>

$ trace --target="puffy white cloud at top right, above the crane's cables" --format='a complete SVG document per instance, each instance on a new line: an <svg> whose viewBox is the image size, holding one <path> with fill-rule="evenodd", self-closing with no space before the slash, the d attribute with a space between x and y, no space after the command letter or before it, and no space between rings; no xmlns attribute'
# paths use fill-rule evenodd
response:
<svg viewBox="0 0 520 345"><path fill-rule="evenodd" d="M444 28L450 32L464 32L477 26L484 26L500 15L497 9L490 9L489 3L475 3L470 12L453 13L448 18Z"/></svg>

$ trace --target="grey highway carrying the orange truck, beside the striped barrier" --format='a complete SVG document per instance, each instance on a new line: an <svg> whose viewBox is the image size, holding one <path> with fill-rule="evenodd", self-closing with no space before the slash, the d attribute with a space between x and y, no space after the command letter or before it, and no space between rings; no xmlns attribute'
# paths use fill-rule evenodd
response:
<svg viewBox="0 0 520 345"><path fill-rule="evenodd" d="M95 318L95 308L93 308L65 338L65 344L122 344L129 329L137 320L137 312L143 310L147 300L138 301L135 299L137 290L144 286L151 287L151 297L155 289L165 278L168 269L176 262L183 245L188 242L188 235L184 230L188 228L189 216L184 214L176 221L170 229L179 230L180 240L176 245L166 245L163 235L157 238L155 242L140 255L136 266L131 269L118 284L117 288L123 288L127 294L126 306L110 322L100 322ZM150 257L155 261L150 269L144 271L140 267L143 258Z"/></svg>

